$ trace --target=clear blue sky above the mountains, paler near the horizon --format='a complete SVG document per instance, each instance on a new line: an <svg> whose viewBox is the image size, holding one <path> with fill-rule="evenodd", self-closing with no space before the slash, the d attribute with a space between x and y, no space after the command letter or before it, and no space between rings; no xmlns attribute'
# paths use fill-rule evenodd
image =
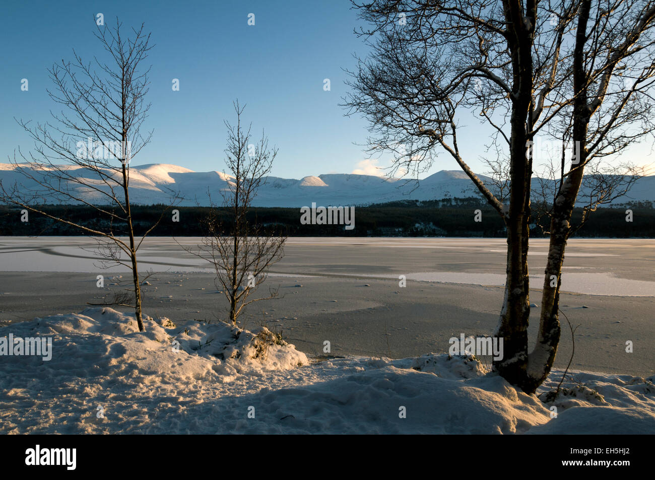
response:
<svg viewBox="0 0 655 480"><path fill-rule="evenodd" d="M232 102L246 103L244 117L255 132L266 130L279 148L272 174L301 178L327 173L375 173L364 147L366 122L345 117L339 107L346 94L343 69L353 54L364 56L364 43L353 33L356 12L347 0L330 1L3 1L0 5L0 155L33 144L14 117L50 120L59 111L45 92L52 84L46 69L72 58L72 48L91 60L100 45L94 16L105 24L118 16L124 27L152 32L152 103L145 126L155 132L135 165L170 163L198 172L222 171L223 120L233 120ZM255 26L248 26L248 14ZM21 79L29 90L21 91ZM172 79L179 79L179 91ZM324 79L330 91L324 90ZM485 132L474 118L460 141L476 172ZM653 162L650 144L632 150L635 162ZM384 162L379 162L385 165ZM448 155L428 174L458 170Z"/></svg>

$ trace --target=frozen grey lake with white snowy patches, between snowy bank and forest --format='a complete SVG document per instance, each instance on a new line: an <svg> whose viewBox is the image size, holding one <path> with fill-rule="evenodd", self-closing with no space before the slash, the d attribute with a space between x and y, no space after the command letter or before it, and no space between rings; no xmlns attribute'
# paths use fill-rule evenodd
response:
<svg viewBox="0 0 655 480"><path fill-rule="evenodd" d="M185 246L199 240L178 239ZM79 312L125 287L126 268L100 268L95 246L84 237L1 237L0 320ZM322 353L325 339L337 355L444 352L459 333L493 332L505 246L499 238L290 238L267 281L284 298L253 304L242 326L281 329L309 354ZM548 240L531 240L531 302L537 304L547 251ZM225 318L225 297L216 293L212 270L200 259L161 237L147 239L140 254L141 271L155 272L144 293L147 314ZM105 276L102 289L96 287L98 274ZM398 286L401 274L405 288ZM571 240L562 284L561 309L572 324L581 324L572 367L652 375L655 240ZM632 354L625 352L627 340L635 344ZM570 350L564 323L556 365L566 366Z"/></svg>

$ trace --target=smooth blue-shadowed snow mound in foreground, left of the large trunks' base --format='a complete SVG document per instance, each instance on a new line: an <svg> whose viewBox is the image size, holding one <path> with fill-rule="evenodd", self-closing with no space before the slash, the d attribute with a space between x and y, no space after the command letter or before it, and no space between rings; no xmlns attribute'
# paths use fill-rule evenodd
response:
<svg viewBox="0 0 655 480"><path fill-rule="evenodd" d="M235 427L249 433L514 434L549 420L536 397L516 392L501 377L483 376L476 360L430 355L329 364L356 373L263 391L253 405L265 414L257 424Z"/></svg>

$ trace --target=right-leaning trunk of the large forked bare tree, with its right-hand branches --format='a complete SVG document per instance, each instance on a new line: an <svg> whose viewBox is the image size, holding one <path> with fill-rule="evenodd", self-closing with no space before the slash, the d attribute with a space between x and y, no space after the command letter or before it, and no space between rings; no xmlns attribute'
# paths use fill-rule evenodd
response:
<svg viewBox="0 0 655 480"><path fill-rule="evenodd" d="M567 239L576 231L571 216L580 188L587 180L591 203L583 212L582 223L597 204L607 202L629 188L636 176L618 177L599 171L597 160L617 155L628 145L655 130L652 120L652 96L649 87L655 76L652 60L655 39L655 2L612 0L574 3L576 31L572 43L567 85L569 102L563 114L570 118L570 128L561 134L570 136L574 149L571 162L561 160L559 189L550 215L550 244L544 275L542 309L536 347L531 353L528 373L534 388L548 372L539 365L552 364L559 342L559 288ZM629 84L621 73L630 65ZM585 168L591 175L585 177ZM602 168L602 167L601 167ZM625 169L623 169L625 170ZM628 172L627 173L631 173Z"/></svg>

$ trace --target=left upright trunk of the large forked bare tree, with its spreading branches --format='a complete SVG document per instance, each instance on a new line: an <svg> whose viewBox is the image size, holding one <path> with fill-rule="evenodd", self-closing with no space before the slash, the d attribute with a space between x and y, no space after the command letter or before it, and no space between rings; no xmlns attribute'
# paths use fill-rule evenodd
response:
<svg viewBox="0 0 655 480"><path fill-rule="evenodd" d="M455 159L506 224L507 278L496 332L504 339L505 356L494 367L508 381L523 385L532 173L526 145L539 117L533 92L541 88L545 96L550 91L548 65L558 60L557 35L548 38L550 48L535 64L536 1L524 7L511 0L377 0L356 8L373 25L360 34L377 40L369 58L360 60L352 73L354 94L346 105L371 120L371 149L405 144L407 155L397 158L399 164L427 160L429 166L438 147ZM506 145L511 180L507 206L460 154L461 109L479 113Z"/></svg>

